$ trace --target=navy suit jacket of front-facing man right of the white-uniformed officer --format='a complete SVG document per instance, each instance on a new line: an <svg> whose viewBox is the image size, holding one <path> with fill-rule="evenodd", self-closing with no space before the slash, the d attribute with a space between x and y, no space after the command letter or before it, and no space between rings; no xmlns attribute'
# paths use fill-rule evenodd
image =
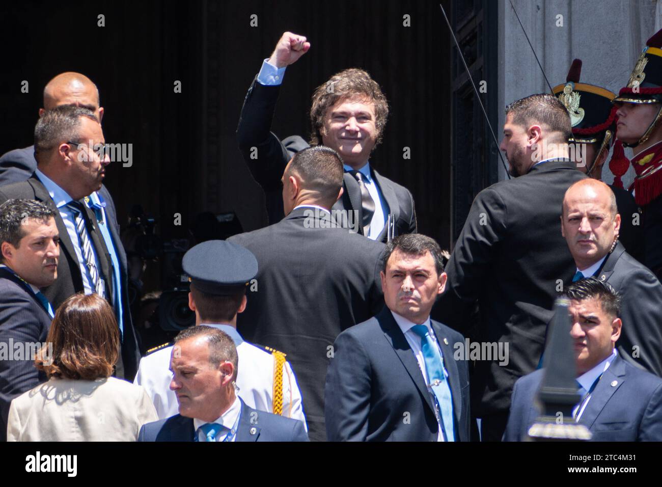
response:
<svg viewBox="0 0 662 487"><path fill-rule="evenodd" d="M455 441L469 441L469 367L453 359L453 345L464 345L464 337L434 320L432 329L448 370ZM387 307L338 335L324 398L329 441L437 441L434 404Z"/></svg>

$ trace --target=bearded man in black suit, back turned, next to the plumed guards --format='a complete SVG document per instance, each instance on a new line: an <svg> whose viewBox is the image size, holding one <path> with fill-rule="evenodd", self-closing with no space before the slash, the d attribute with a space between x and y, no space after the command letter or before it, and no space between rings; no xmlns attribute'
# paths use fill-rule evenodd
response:
<svg viewBox="0 0 662 487"><path fill-rule="evenodd" d="M471 376L471 409L482 419L482 438L496 441L515 380L540 361L557 287L573 275L558 213L565 190L586 177L567 158L570 117L553 95L526 97L506 113L500 149L518 177L476 196L446 266L446 292L433 311L469 335L477 303L471 340L509 344L508 365L477 362Z"/></svg>

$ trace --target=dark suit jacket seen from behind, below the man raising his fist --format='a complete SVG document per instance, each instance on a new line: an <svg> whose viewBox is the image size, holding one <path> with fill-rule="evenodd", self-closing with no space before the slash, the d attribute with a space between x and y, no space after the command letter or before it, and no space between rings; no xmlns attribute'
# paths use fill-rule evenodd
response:
<svg viewBox="0 0 662 487"><path fill-rule="evenodd" d="M330 347L338 333L383 307L379 272L384 244L347 229L317 228L306 210L295 209L275 225L228 241L258 259L258 289L248 292L238 330L250 343L287 354L303 396L310 439L324 441ZM307 222L313 227L307 228Z"/></svg>

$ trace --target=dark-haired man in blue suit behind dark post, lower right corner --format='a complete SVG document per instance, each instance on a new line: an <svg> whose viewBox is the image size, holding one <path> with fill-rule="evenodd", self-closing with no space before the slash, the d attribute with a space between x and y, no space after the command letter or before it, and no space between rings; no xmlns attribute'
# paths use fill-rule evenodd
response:
<svg viewBox="0 0 662 487"><path fill-rule="evenodd" d="M622 329L618 293L588 278L565 290L570 300L570 336L577 364L573 417L592 433L591 441L662 441L662 380L624 360L614 344ZM545 370L515 383L504 441L522 441L540 414L535 396Z"/></svg>

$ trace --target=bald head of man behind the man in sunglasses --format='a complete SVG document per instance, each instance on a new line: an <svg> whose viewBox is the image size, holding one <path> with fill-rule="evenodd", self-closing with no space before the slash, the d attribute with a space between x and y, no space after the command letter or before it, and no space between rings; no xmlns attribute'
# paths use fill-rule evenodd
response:
<svg viewBox="0 0 662 487"><path fill-rule="evenodd" d="M44 87L44 107L39 110L39 116L46 110L62 105L87 108L95 112L99 121L103 118L103 107L99 106L99 90L84 74L66 72L48 81Z"/></svg>

